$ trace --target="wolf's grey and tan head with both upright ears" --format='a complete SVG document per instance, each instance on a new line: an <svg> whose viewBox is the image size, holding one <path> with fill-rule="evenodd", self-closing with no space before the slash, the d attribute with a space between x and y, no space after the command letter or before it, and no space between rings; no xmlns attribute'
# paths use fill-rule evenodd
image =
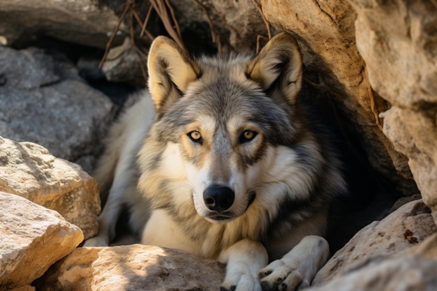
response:
<svg viewBox="0 0 437 291"><path fill-rule="evenodd" d="M194 204L209 221L230 221L267 201L263 185L304 180L289 169L290 145L305 137L295 108L302 59L288 33L253 59L193 60L160 36L148 68L156 119L140 151L140 188L157 207L180 213Z"/></svg>

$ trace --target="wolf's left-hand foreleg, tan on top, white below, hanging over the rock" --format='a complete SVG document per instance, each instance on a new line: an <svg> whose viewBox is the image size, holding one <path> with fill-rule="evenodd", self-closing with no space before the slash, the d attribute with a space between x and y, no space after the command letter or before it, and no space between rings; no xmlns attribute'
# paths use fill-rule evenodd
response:
<svg viewBox="0 0 437 291"><path fill-rule="evenodd" d="M268 262L267 251L262 244L242 239L222 251L218 260L227 264L221 291L261 290L258 271Z"/></svg>

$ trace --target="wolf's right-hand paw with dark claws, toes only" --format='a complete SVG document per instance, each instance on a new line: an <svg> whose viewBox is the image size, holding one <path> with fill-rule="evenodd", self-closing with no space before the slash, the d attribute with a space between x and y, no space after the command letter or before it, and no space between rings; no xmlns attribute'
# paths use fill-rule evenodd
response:
<svg viewBox="0 0 437 291"><path fill-rule="evenodd" d="M309 281L303 278L301 272L282 260L276 260L261 269L258 276L262 291L301 290L309 287Z"/></svg>

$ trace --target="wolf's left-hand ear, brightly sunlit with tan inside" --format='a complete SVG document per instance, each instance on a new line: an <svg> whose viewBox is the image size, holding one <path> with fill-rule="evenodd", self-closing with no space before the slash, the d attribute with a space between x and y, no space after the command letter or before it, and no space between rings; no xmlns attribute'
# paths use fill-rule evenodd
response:
<svg viewBox="0 0 437 291"><path fill-rule="evenodd" d="M200 75L195 62L165 36L158 36L151 44L147 68L149 91L157 110L179 98L188 84Z"/></svg>

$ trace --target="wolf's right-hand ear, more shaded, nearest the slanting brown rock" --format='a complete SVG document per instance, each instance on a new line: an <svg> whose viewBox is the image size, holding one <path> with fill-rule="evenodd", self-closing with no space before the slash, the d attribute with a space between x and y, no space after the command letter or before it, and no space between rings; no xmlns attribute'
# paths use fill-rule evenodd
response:
<svg viewBox="0 0 437 291"><path fill-rule="evenodd" d="M302 85L302 57L295 38L285 32L274 36L251 61L246 75L262 89L277 87L294 104Z"/></svg>

